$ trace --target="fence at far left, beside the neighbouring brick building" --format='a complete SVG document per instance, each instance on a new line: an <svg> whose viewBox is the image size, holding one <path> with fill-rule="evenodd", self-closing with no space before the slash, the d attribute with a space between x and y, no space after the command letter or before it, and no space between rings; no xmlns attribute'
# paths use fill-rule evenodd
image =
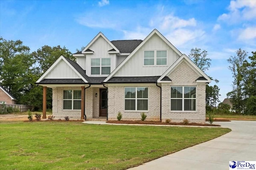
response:
<svg viewBox="0 0 256 170"><path fill-rule="evenodd" d="M34 110L34 106L22 104L0 104L0 113L13 113Z"/></svg>

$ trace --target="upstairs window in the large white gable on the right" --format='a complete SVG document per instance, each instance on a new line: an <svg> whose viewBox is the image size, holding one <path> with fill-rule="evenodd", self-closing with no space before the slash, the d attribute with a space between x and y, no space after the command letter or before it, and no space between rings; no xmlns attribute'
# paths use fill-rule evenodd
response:
<svg viewBox="0 0 256 170"><path fill-rule="evenodd" d="M144 51L144 66L154 65L167 65L166 50Z"/></svg>

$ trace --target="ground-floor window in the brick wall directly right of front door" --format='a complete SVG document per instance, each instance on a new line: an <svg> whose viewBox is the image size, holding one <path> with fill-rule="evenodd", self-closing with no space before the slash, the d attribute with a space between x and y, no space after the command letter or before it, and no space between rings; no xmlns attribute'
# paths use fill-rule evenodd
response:
<svg viewBox="0 0 256 170"><path fill-rule="evenodd" d="M148 88L125 87L124 110L148 110Z"/></svg>

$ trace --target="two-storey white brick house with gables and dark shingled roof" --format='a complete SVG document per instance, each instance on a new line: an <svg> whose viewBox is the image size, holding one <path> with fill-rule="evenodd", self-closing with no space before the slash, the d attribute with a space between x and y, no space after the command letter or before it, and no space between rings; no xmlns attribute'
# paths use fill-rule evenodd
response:
<svg viewBox="0 0 256 170"><path fill-rule="evenodd" d="M142 40L109 41L101 32L76 62L61 56L36 82L52 88L55 117L205 123L205 89L210 78L158 30Z"/></svg>

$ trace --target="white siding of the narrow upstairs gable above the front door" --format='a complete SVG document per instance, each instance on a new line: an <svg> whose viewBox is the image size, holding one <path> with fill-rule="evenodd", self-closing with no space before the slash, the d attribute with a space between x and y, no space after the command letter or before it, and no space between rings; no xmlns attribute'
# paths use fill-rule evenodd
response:
<svg viewBox="0 0 256 170"><path fill-rule="evenodd" d="M90 45L88 49L94 51L93 54L86 54L86 74L88 76L101 76L91 75L92 58L111 58L110 72L112 72L116 68L116 54L108 53L108 51L113 49L113 47L103 37L98 37L98 39L92 45Z"/></svg>

